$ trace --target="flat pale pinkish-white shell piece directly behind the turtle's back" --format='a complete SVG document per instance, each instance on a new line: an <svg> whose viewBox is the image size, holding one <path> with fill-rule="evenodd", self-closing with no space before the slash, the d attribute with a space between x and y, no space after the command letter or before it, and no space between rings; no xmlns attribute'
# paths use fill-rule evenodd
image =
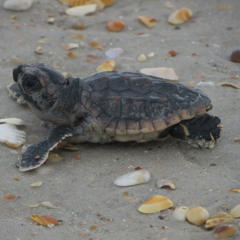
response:
<svg viewBox="0 0 240 240"><path fill-rule="evenodd" d="M178 80L178 76L173 68L158 67L158 68L142 68L140 72L143 74L164 78L171 81Z"/></svg>

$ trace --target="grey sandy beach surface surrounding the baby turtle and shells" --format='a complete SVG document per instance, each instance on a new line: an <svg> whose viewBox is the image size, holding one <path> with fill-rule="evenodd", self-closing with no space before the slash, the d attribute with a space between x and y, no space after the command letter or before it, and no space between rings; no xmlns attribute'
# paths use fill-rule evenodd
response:
<svg viewBox="0 0 240 240"><path fill-rule="evenodd" d="M2 1L3 2L3 1ZM78 151L54 150L64 157L46 162L37 170L19 172L15 162L21 148L0 145L0 233L2 240L202 240L214 239L213 230L173 218L173 209L142 214L138 207L153 195L167 196L174 206L203 206L210 215L229 212L240 204L240 90L220 86L227 82L240 86L240 64L229 60L240 49L240 2L237 0L116 0L101 11L83 17L65 14L67 6L58 1L34 1L27 11L0 7L0 117L17 117L25 122L26 145L39 142L48 130L31 111L8 96L12 69L21 63L43 62L60 72L80 78L96 73L105 51L122 48L115 59L119 72L139 72L142 68L170 67L179 83L203 90L212 100L211 114L221 118L224 128L214 149L195 149L176 139L150 143L81 144ZM170 4L169 4L170 3ZM170 25L168 16L188 7L193 18ZM147 28L138 16L159 21ZM49 18L54 18L49 23ZM110 32L106 23L124 21L121 32ZM73 29L72 25L84 28ZM76 38L77 37L77 38ZM89 42L102 43L102 49ZM77 43L67 55L65 43ZM35 49L41 47L42 54ZM175 50L172 57L168 52ZM143 62L140 54L154 56ZM202 84L208 82L207 84ZM209 84L209 82L211 82ZM199 85L199 83L201 83ZM76 159L76 154L80 159ZM148 183L117 187L113 181L140 167L151 173ZM159 189L157 179L168 179L176 190ZM31 187L34 182L40 187ZM4 195L13 194L12 200ZM56 209L33 207L49 201ZM49 215L60 224L39 226L32 215ZM239 219L233 223L239 230ZM230 239L239 239L237 233Z"/></svg>

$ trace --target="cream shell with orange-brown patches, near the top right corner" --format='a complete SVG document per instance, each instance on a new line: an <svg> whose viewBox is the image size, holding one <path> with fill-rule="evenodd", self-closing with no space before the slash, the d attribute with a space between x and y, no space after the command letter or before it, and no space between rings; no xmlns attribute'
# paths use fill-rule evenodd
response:
<svg viewBox="0 0 240 240"><path fill-rule="evenodd" d="M178 24L186 22L190 18L192 18L191 9L184 7L184 8L180 8L180 9L176 10L175 12L173 12L169 16L168 22L173 25L178 25Z"/></svg>

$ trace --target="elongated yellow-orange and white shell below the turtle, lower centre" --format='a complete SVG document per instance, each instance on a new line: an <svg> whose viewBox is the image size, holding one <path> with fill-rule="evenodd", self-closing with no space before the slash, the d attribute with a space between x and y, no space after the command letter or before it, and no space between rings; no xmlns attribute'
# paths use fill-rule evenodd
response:
<svg viewBox="0 0 240 240"><path fill-rule="evenodd" d="M161 210L166 210L172 206L173 202L169 198L162 195L156 195L144 202L138 208L138 211L141 213L155 213Z"/></svg>

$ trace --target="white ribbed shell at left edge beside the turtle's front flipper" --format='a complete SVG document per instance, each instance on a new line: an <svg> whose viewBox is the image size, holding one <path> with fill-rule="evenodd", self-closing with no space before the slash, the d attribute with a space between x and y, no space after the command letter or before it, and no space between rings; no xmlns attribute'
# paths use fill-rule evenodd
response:
<svg viewBox="0 0 240 240"><path fill-rule="evenodd" d="M26 133L18 130L13 124L0 124L0 142L18 148L26 142Z"/></svg>

